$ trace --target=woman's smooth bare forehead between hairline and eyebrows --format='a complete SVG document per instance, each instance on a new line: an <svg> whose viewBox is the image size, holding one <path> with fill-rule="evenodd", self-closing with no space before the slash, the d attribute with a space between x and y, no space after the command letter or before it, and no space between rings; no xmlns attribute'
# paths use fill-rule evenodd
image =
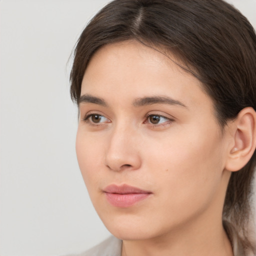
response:
<svg viewBox="0 0 256 256"><path fill-rule="evenodd" d="M123 41L101 47L91 58L81 85L81 95L92 94L134 100L146 95L175 97L185 105L203 105L212 100L201 82L185 72L171 54L137 41ZM115 99L115 100L113 100Z"/></svg>

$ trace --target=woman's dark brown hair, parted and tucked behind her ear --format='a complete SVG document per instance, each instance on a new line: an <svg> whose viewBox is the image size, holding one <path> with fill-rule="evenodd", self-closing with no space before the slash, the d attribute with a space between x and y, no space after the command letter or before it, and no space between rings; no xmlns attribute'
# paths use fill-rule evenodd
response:
<svg viewBox="0 0 256 256"><path fill-rule="evenodd" d="M113 0L87 24L74 49L70 93L78 103L81 82L92 55L103 45L137 40L171 53L185 71L198 78L214 103L221 128L247 106L256 109L256 35L249 21L223 0ZM173 60L174 61L174 60ZM182 63L182 64L180 64ZM223 219L248 238L255 152L232 172Z"/></svg>

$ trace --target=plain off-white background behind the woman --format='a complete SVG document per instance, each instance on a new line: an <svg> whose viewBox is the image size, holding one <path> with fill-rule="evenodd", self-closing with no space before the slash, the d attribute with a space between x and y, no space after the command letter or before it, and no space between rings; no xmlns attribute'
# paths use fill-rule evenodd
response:
<svg viewBox="0 0 256 256"><path fill-rule="evenodd" d="M80 252L108 236L75 156L68 57L107 0L0 0L0 255ZM230 0L256 27L256 0Z"/></svg>

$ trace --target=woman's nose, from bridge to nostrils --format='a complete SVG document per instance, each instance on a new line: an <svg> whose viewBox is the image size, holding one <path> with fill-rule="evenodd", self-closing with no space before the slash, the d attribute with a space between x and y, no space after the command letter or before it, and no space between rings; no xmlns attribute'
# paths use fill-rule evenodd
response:
<svg viewBox="0 0 256 256"><path fill-rule="evenodd" d="M116 127L109 137L105 165L114 171L135 170L141 165L138 134L130 127Z"/></svg>

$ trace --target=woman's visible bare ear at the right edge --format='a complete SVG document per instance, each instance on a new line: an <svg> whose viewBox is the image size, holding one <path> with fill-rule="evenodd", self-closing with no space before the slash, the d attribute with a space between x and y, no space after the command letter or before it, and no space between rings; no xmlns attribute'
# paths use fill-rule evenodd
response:
<svg viewBox="0 0 256 256"><path fill-rule="evenodd" d="M237 171L252 156L256 147L256 112L252 107L243 108L230 124L231 143L225 169Z"/></svg>

